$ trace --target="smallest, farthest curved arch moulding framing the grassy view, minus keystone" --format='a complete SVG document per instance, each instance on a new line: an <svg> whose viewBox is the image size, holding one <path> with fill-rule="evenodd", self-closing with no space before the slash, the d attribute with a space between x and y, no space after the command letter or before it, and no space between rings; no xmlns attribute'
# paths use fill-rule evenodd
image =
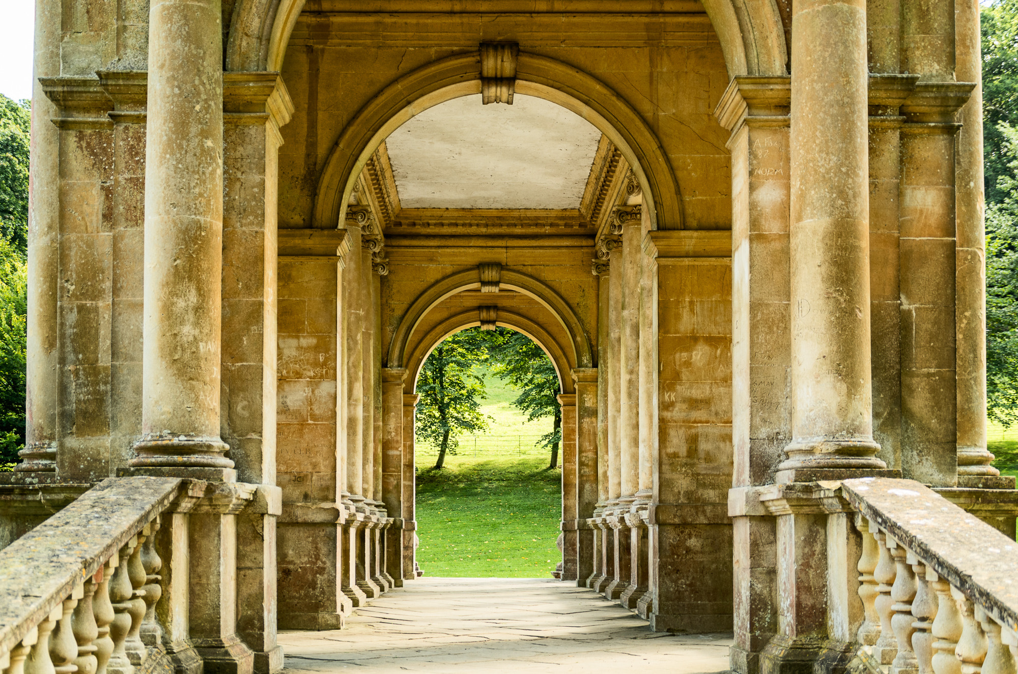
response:
<svg viewBox="0 0 1018 674"><path fill-rule="evenodd" d="M404 380L404 393L413 393L416 391L420 370L425 364L425 360L435 350L435 347L441 344L447 337L461 330L479 325L480 321L477 319L477 311L470 310L447 318L428 331L428 334L421 336L420 339L413 340L413 344L410 345L409 352L406 355L406 370L408 375L406 380ZM576 363L574 360L569 359L566 350L562 348L562 345L547 330L524 316L503 311L499 312L495 325L500 328L515 330L529 337L534 344L542 348L555 367L555 372L559 376L560 393L574 392L570 373L575 369Z"/></svg>

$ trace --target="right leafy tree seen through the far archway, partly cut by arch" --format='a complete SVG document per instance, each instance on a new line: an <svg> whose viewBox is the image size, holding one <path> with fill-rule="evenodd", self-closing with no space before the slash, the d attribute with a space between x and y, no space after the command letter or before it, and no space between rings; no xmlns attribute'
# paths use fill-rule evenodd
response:
<svg viewBox="0 0 1018 674"><path fill-rule="evenodd" d="M523 333L498 328L489 335L492 372L508 380L520 392L513 404L526 412L528 422L553 417L552 431L542 436L541 446L552 450L548 467L557 467L559 443L562 442L562 407L558 400L561 389L555 366L545 351Z"/></svg>

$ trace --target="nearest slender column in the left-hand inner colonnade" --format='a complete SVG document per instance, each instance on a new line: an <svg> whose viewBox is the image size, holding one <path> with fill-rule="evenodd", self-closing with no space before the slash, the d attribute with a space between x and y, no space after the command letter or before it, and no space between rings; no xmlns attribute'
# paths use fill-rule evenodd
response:
<svg viewBox="0 0 1018 674"><path fill-rule="evenodd" d="M363 495L363 341L360 326L363 323L361 286L360 212L347 214L346 230L350 234L350 256L343 270L343 333L346 335L344 348L345 392L346 392L346 491L350 502L362 510ZM352 536L350 540L352 540Z"/></svg>

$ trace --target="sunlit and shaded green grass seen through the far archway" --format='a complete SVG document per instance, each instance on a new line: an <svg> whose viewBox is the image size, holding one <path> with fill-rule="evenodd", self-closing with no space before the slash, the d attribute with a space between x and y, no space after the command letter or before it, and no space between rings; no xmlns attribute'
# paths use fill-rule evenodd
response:
<svg viewBox="0 0 1018 674"><path fill-rule="evenodd" d="M493 416L490 438L518 443L551 431L551 418L527 423L512 407L516 392L487 378L482 410ZM478 438L484 444L485 436ZM417 451L417 564L427 575L547 578L561 559L560 468L550 469L549 452L523 447L503 455L472 453L462 441L457 454L434 470L434 448Z"/></svg>

